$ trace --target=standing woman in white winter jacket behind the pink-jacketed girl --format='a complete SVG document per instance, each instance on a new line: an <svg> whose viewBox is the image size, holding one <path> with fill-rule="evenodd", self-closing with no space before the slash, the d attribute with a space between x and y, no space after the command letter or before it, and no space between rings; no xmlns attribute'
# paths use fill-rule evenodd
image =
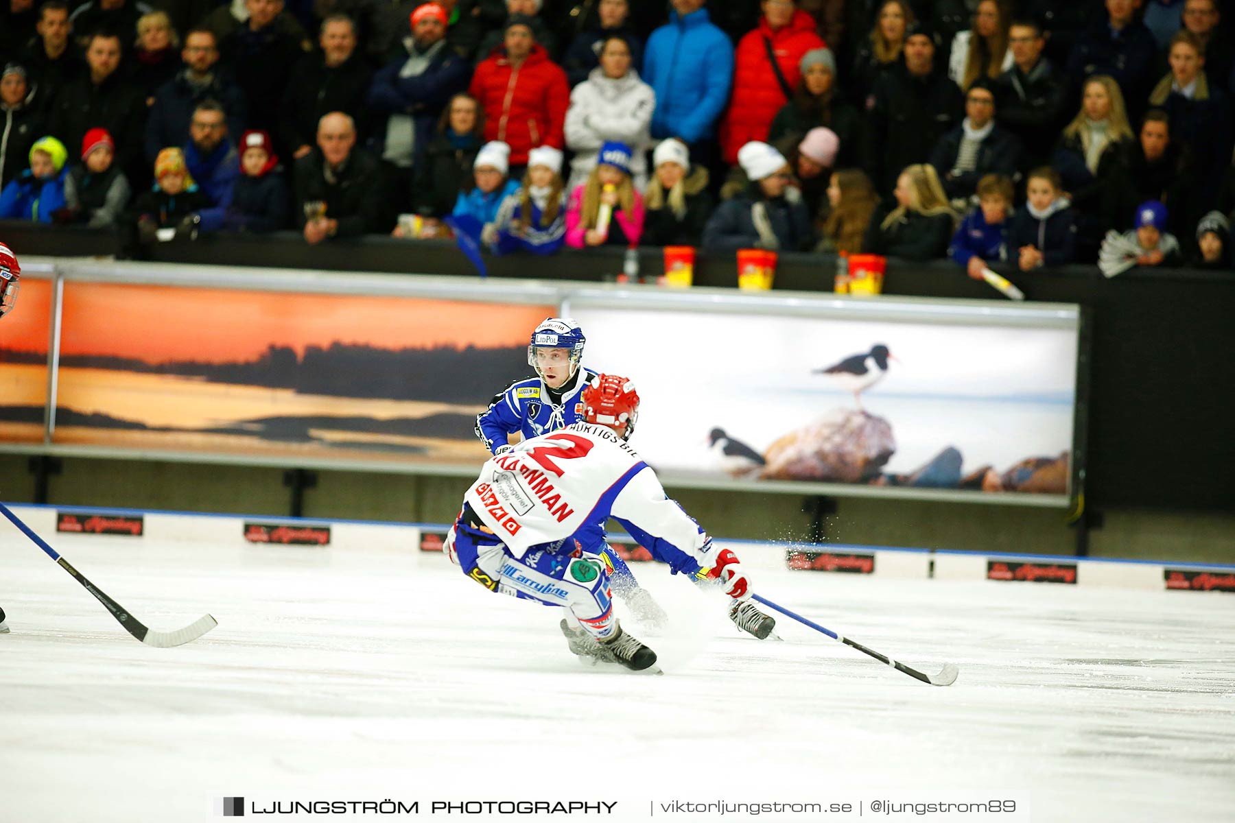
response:
<svg viewBox="0 0 1235 823"><path fill-rule="evenodd" d="M600 67L571 91L566 111L566 144L574 152L567 191L588 181L597 168L597 154L609 141L634 151L631 176L635 189L647 185L647 151L652 147L652 111L656 93L630 67L630 44L620 36L605 38Z"/></svg>

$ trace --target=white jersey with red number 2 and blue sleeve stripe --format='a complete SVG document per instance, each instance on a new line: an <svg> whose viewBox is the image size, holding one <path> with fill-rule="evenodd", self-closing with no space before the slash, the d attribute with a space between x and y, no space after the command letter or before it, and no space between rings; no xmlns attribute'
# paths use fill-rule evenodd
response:
<svg viewBox="0 0 1235 823"><path fill-rule="evenodd" d="M519 443L484 464L466 500L516 558L613 516L715 565L708 536L605 426L576 423Z"/></svg>

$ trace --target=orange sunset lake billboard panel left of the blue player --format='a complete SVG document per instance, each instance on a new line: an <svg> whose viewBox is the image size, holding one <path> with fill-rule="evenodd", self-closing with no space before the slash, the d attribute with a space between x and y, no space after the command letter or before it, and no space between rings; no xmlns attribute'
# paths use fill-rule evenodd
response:
<svg viewBox="0 0 1235 823"><path fill-rule="evenodd" d="M555 308L70 281L54 442L479 466Z"/></svg>

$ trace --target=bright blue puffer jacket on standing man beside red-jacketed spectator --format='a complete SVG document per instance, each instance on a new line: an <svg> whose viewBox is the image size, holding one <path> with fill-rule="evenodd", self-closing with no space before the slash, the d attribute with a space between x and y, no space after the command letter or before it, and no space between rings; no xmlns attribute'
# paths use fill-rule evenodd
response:
<svg viewBox="0 0 1235 823"><path fill-rule="evenodd" d="M715 133L729 102L734 46L706 9L685 17L674 11L647 41L643 79L656 91L652 137L678 137L690 146Z"/></svg>

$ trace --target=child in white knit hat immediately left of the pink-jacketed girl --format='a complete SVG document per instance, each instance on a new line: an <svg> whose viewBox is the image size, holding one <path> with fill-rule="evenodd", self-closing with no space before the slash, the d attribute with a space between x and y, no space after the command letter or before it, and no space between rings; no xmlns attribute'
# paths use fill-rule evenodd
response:
<svg viewBox="0 0 1235 823"><path fill-rule="evenodd" d="M552 254L566 239L566 184L562 152L541 146L527 153L527 174L519 191L506 197L485 242L499 254Z"/></svg>

